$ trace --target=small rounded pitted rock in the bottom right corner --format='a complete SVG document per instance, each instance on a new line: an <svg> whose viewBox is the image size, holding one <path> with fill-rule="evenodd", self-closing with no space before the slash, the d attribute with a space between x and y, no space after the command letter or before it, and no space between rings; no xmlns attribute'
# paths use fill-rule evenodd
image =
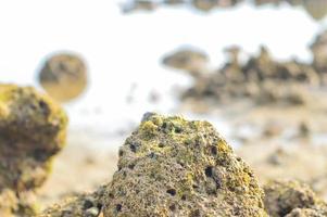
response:
<svg viewBox="0 0 327 217"><path fill-rule="evenodd" d="M264 187L264 191L265 208L272 217L327 215L326 204L305 184L272 181Z"/></svg>

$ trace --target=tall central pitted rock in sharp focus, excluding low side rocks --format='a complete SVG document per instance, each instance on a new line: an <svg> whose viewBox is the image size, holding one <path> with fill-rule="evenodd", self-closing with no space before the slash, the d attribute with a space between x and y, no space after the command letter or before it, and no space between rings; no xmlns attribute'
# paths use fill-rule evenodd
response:
<svg viewBox="0 0 327 217"><path fill-rule="evenodd" d="M252 170L206 122L146 114L120 151L104 216L266 216Z"/></svg>

